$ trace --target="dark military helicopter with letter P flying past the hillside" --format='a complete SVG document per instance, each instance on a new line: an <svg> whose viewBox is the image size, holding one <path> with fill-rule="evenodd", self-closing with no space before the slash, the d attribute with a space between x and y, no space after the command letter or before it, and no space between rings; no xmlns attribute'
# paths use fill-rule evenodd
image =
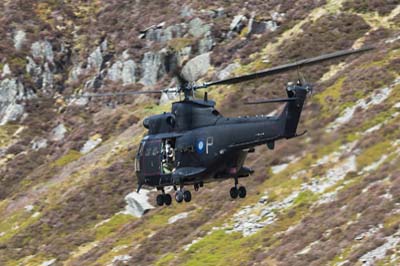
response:
<svg viewBox="0 0 400 266"><path fill-rule="evenodd" d="M215 108L215 101L208 99L207 92L201 100L195 99L194 93L213 86L258 79L371 49L374 47L337 51L202 84L188 82L178 75L179 85L175 88L120 93L184 95L183 100L172 103L171 112L153 115L143 120L143 126L148 132L141 140L135 158L137 192L139 193L144 185L155 187L161 192L156 197L156 204L168 206L172 203L172 197L165 192L166 187L173 187L176 202L190 202L192 195L185 186L193 186L194 190L198 191L205 183L233 179L234 186L229 191L230 197L245 198L246 188L239 186L239 178L254 173L252 169L244 166L246 156L254 152L256 146L267 145L273 150L277 140L291 139L306 133L304 131L298 134L297 126L307 95L312 93L312 85L299 79L295 83L289 82L286 86L287 98L246 103L286 103L283 111L276 116L224 117Z"/></svg>

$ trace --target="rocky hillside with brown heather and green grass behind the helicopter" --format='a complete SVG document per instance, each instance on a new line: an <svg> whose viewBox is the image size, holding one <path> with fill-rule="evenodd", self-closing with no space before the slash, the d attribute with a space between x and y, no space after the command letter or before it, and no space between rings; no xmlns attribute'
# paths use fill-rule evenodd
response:
<svg viewBox="0 0 400 266"><path fill-rule="evenodd" d="M0 265L400 264L399 0L5 0L0 25ZM174 86L199 55L201 82L363 45L301 70L308 133L249 154L245 199L227 180L141 215L142 122L173 99L65 98ZM281 105L242 103L296 78L209 98L270 114Z"/></svg>

